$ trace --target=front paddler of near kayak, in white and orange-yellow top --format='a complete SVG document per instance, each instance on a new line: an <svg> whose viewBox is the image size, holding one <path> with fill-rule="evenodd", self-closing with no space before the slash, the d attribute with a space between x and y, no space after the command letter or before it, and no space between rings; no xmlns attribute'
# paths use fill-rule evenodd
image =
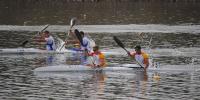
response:
<svg viewBox="0 0 200 100"><path fill-rule="evenodd" d="M95 67L105 67L106 66L106 60L105 60L105 55L99 51L99 46L94 46L93 47L93 52L88 53L88 56L91 56L91 62L87 64L88 66L91 66L93 68Z"/></svg>

